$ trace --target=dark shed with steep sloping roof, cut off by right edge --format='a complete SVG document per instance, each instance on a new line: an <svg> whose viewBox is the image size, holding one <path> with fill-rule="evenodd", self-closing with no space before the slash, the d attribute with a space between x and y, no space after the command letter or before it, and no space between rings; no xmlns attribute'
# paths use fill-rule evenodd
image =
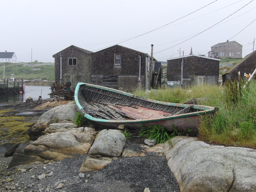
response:
<svg viewBox="0 0 256 192"><path fill-rule="evenodd" d="M241 78L244 79L244 74L252 74L256 69L256 51L247 55L244 59L238 62L232 69L227 71L224 75L222 75L222 82L224 84L225 81L230 79L234 81L238 80L238 72L240 71Z"/></svg>

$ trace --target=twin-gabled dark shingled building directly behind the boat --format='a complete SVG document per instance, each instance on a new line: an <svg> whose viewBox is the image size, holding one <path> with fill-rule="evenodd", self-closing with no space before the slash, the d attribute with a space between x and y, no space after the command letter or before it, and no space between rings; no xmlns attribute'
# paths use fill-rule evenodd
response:
<svg viewBox="0 0 256 192"><path fill-rule="evenodd" d="M154 82L154 61L150 55L115 45L98 52L90 52L70 46L53 55L55 58L55 82L71 82L71 90L77 82L129 91L150 89Z"/></svg>

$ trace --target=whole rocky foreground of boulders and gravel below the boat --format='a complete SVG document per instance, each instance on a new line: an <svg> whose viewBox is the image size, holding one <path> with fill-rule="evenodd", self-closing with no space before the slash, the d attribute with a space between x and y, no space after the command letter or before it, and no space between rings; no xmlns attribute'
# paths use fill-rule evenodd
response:
<svg viewBox="0 0 256 192"><path fill-rule="evenodd" d="M47 102L33 107L46 112L29 129L45 135L13 157L0 147L2 191L256 191L256 150L185 136L148 146L120 130L75 127L73 102Z"/></svg>

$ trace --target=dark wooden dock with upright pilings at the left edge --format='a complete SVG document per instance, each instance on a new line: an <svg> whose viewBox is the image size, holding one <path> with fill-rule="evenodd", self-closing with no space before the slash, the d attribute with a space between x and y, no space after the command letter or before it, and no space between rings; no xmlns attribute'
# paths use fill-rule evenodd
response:
<svg viewBox="0 0 256 192"><path fill-rule="evenodd" d="M25 83L23 79L4 79L0 82L0 94L23 94L25 92Z"/></svg>

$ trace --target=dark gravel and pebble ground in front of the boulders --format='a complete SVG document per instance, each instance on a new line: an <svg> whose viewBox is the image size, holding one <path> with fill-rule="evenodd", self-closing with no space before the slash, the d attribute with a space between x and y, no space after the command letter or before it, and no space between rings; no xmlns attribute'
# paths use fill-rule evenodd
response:
<svg viewBox="0 0 256 192"><path fill-rule="evenodd" d="M139 150L127 142L125 147ZM0 191L18 192L179 192L176 178L164 155L147 153L145 157L118 158L98 171L79 176L87 154L44 164L20 165L8 169L11 157L0 154ZM44 177L41 180L39 177Z"/></svg>

